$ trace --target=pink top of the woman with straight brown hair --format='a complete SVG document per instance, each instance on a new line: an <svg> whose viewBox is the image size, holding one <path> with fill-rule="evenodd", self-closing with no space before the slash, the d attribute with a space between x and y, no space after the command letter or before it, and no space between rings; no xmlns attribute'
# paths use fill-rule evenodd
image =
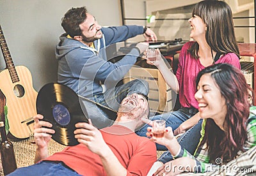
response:
<svg viewBox="0 0 256 176"><path fill-rule="evenodd" d="M195 57L188 52L188 48L194 42L195 41L189 41L182 47L176 77L180 86L180 105L185 108L194 107L198 109L198 102L195 99L196 76L205 66L201 64L199 59L195 59ZM218 63L228 63L241 69L239 58L234 53L221 55L220 59L215 62L215 64Z"/></svg>

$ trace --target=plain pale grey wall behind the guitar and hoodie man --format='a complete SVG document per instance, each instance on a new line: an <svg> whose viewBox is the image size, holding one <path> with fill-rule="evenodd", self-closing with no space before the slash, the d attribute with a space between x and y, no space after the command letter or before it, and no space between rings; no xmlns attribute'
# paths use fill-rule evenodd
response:
<svg viewBox="0 0 256 176"><path fill-rule="evenodd" d="M79 6L86 6L102 26L122 23L119 0L0 0L0 25L13 62L29 68L36 91L56 82L54 48L63 33L61 18L67 10ZM0 70L4 68L0 54Z"/></svg>

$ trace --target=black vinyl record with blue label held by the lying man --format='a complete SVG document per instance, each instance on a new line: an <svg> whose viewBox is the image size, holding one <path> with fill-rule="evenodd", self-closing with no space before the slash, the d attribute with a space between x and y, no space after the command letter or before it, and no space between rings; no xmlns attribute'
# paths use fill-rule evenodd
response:
<svg viewBox="0 0 256 176"><path fill-rule="evenodd" d="M55 133L52 139L63 145L77 145L74 137L75 124L88 122L84 116L76 92L66 85L49 83L38 92L36 99L38 114L44 115L44 121L51 122Z"/></svg>

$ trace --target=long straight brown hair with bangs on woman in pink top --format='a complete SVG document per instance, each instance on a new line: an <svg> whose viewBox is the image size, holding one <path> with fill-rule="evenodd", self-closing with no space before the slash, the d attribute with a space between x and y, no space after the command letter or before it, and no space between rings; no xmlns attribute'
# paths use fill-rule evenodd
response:
<svg viewBox="0 0 256 176"><path fill-rule="evenodd" d="M212 50L221 54L235 53L240 58L232 11L227 3L216 0L200 1L193 9L192 17L194 15L198 15L205 22L205 38ZM195 42L188 52L198 59L198 49L199 45Z"/></svg>

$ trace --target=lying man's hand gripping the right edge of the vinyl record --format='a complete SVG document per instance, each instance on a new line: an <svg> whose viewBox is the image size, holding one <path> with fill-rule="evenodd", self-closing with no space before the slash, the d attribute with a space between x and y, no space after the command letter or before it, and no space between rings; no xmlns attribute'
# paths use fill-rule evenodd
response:
<svg viewBox="0 0 256 176"><path fill-rule="evenodd" d="M104 149L108 148L108 145L104 141L99 129L92 125L92 121L89 119L89 124L79 122L76 124L76 128L74 134L77 141L86 145L93 153L102 156Z"/></svg>

